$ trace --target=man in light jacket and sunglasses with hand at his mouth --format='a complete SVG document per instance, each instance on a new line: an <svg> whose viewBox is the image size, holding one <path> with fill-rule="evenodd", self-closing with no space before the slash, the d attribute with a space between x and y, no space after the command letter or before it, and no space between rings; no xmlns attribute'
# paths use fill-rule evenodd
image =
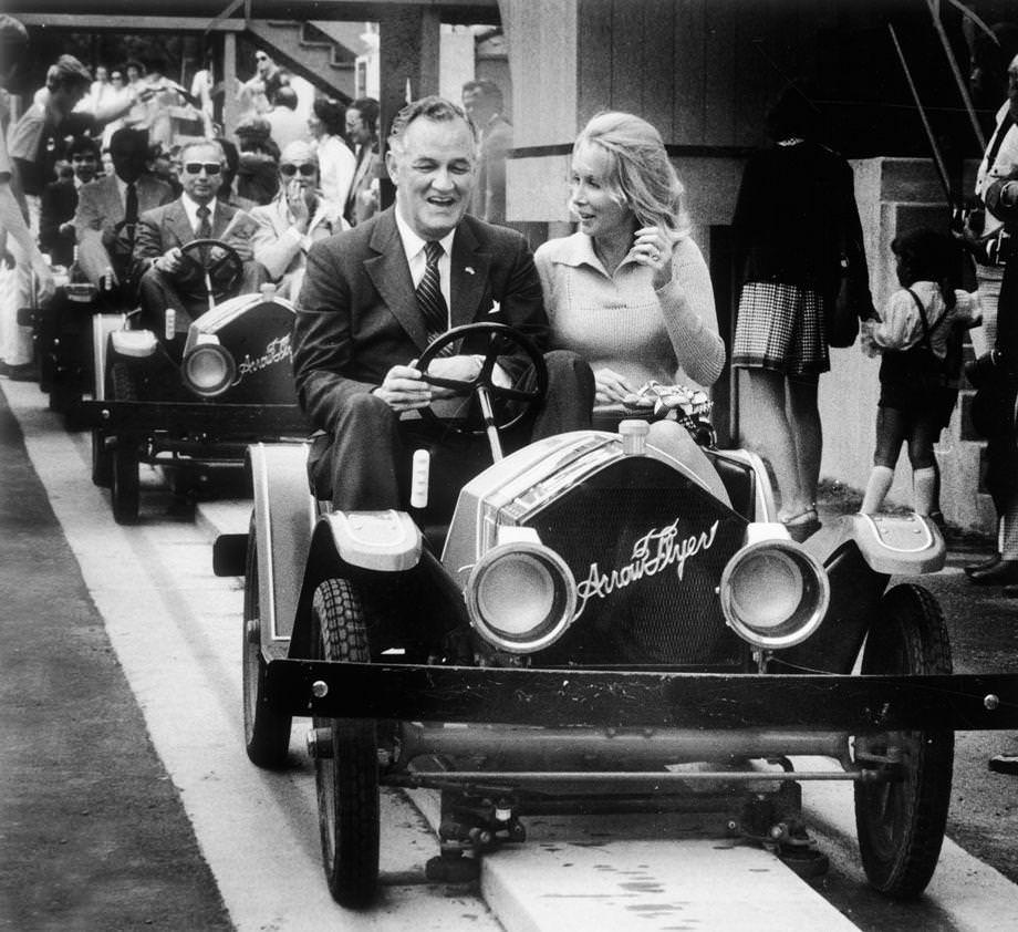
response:
<svg viewBox="0 0 1018 932"><path fill-rule="evenodd" d="M254 261L277 282L279 294L295 299L304 278L308 250L346 225L339 205L322 197L318 157L308 143L290 143L279 163L279 193L254 207L258 224L251 245Z"/></svg>

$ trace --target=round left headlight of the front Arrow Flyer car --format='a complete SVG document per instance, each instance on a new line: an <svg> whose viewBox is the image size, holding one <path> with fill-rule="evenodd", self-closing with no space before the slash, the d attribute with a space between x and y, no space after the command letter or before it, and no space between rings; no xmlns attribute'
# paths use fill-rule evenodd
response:
<svg viewBox="0 0 1018 932"><path fill-rule="evenodd" d="M489 550L471 570L465 594L477 632L510 653L553 644L576 611L572 571L540 543L516 541Z"/></svg>

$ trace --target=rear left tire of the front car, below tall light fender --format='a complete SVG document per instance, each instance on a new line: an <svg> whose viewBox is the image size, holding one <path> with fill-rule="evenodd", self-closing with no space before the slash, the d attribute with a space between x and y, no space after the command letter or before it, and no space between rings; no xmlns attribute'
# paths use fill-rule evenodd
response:
<svg viewBox="0 0 1018 932"><path fill-rule="evenodd" d="M261 598L258 587L258 542L252 516L243 574L243 743L252 764L279 769L287 763L293 718L276 712L266 702L268 664L261 653Z"/></svg>

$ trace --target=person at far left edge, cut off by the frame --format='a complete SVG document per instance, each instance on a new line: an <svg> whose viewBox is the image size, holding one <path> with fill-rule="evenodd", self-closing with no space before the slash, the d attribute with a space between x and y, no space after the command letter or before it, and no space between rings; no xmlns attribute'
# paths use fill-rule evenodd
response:
<svg viewBox="0 0 1018 932"><path fill-rule="evenodd" d="M28 49L24 27L0 14L0 374L27 377L31 370L32 334L18 325L17 278L35 278L37 297L48 301L55 290L53 275L27 222L23 201L12 185L13 165L7 151L8 86ZM10 257L8 259L8 257ZM8 268L11 266L11 268ZM17 268L15 268L17 267Z"/></svg>

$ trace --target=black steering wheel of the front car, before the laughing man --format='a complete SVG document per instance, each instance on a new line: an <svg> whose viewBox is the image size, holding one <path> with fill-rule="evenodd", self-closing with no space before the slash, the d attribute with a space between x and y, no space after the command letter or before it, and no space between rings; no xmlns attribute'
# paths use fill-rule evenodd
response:
<svg viewBox="0 0 1018 932"><path fill-rule="evenodd" d="M443 355L442 351L446 346L482 334L488 334L488 349L485 353L480 372L474 379L460 381L458 379L443 379L427 373L428 365ZM511 354L516 349L522 350L533 364L532 379L528 380L531 384L521 389L506 389L496 385L494 372L499 358ZM517 424L534 405L544 398L548 392L548 367L544 365L544 356L541 351L527 336L505 323L480 322L454 327L432 341L417 360L416 367L424 373L422 379L429 385L450 389L454 394L463 395L464 397L477 397L484 423L477 424L475 422L472 426L469 423L446 423L430 407L420 410L420 416L426 421L442 424L448 429L463 434L487 433L490 437L494 431L497 438L499 431L507 431ZM492 404L492 402L509 402L510 404Z"/></svg>

